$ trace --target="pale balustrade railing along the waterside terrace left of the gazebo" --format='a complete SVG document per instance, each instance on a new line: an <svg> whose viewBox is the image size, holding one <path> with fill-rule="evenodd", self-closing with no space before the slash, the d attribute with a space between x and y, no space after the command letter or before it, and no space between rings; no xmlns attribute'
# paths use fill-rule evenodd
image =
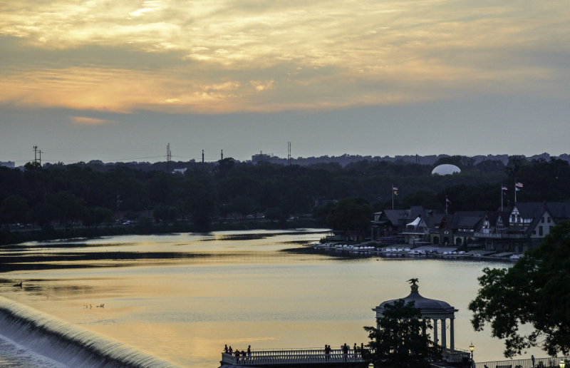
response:
<svg viewBox="0 0 570 368"><path fill-rule="evenodd" d="M311 363L342 363L364 362L362 356L354 350L343 354L342 350L331 350L325 354L323 349L318 350L268 350L255 351L249 356L236 357L235 355L222 352L222 362L233 365L271 365L271 364L311 364Z"/></svg>

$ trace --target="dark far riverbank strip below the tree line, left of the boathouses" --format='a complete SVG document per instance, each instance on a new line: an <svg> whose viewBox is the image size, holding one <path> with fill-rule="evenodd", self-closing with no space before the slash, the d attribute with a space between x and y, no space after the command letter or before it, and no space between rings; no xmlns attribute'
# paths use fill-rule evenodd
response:
<svg viewBox="0 0 570 368"><path fill-rule="evenodd" d="M270 221L246 220L231 223L212 223L210 231L233 230L287 230L297 228L319 228L316 220L300 218L286 221L286 223L273 223ZM115 235L161 235L178 232L198 232L192 223L153 224L144 223L131 225L101 226L98 228L61 228L26 231L0 230L0 246L20 244L22 242L41 242L46 240L63 239L94 239Z"/></svg>

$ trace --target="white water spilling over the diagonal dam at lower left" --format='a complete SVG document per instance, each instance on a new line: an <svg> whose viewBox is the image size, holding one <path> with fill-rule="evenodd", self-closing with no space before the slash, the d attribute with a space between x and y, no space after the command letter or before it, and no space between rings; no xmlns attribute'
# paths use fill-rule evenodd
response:
<svg viewBox="0 0 570 368"><path fill-rule="evenodd" d="M6 359L18 355L14 346L19 344L36 354L73 368L175 367L113 339L73 326L4 297L0 297L0 334L7 338L4 339L4 350L8 352ZM14 367L26 367L26 364L15 363Z"/></svg>

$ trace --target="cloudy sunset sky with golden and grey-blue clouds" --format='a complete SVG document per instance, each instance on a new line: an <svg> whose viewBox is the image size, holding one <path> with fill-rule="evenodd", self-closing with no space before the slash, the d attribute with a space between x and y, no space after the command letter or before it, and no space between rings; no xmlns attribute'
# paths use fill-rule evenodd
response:
<svg viewBox="0 0 570 368"><path fill-rule="evenodd" d="M570 2L1 0L0 160L570 153Z"/></svg>

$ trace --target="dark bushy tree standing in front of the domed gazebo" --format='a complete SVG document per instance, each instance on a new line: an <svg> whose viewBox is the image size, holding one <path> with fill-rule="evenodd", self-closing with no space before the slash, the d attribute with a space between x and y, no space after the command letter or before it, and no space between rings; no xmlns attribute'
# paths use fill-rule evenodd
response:
<svg viewBox="0 0 570 368"><path fill-rule="evenodd" d="M427 329L432 329L430 320L421 317L414 302L405 305L400 299L386 305L383 316L378 318L380 328L364 327L371 341L363 349L363 358L374 367L430 367L427 359L440 358L442 352L427 334Z"/></svg>

